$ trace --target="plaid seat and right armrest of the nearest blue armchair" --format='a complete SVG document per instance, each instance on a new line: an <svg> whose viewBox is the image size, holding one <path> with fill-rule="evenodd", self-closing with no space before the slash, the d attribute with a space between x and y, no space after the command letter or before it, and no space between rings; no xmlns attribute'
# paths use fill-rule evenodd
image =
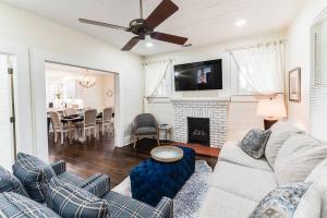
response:
<svg viewBox="0 0 327 218"><path fill-rule="evenodd" d="M117 192L109 192L104 199L109 203L111 217L134 217L134 218L172 218L171 199L164 197L158 207L121 195Z"/></svg>

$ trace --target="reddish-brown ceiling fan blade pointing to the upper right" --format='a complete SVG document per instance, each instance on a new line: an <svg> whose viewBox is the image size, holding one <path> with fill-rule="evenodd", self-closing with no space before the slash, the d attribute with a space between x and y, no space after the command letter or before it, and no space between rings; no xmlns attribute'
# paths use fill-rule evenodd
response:
<svg viewBox="0 0 327 218"><path fill-rule="evenodd" d="M171 0L162 0L155 11L153 11L153 13L145 20L145 24L148 28L154 29L178 10L179 7Z"/></svg>

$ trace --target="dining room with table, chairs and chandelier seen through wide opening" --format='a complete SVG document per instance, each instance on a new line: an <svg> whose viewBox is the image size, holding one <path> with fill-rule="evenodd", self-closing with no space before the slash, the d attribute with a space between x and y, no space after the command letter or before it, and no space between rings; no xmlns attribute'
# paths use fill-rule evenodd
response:
<svg viewBox="0 0 327 218"><path fill-rule="evenodd" d="M114 141L114 73L46 63L46 104L50 145Z"/></svg>

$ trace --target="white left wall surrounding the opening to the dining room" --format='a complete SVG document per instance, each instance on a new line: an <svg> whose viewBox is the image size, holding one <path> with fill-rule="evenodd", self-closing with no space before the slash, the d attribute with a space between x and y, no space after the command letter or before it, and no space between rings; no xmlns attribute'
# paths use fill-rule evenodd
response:
<svg viewBox="0 0 327 218"><path fill-rule="evenodd" d="M47 160L45 60L119 73L120 112L117 120L120 125L117 145L128 143L125 138L129 138L130 124L134 116L142 112L143 69L140 57L122 52L64 25L0 3L0 47L2 44L29 49L34 138L32 144L24 146L32 147L35 155Z"/></svg>

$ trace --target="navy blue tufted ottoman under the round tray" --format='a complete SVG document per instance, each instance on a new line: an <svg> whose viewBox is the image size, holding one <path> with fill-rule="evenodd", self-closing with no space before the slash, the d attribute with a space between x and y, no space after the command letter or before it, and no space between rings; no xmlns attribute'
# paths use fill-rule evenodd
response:
<svg viewBox="0 0 327 218"><path fill-rule="evenodd" d="M162 196L174 197L195 169L194 150L180 148L184 156L177 162L147 159L132 169L130 178L133 198L156 206Z"/></svg>

